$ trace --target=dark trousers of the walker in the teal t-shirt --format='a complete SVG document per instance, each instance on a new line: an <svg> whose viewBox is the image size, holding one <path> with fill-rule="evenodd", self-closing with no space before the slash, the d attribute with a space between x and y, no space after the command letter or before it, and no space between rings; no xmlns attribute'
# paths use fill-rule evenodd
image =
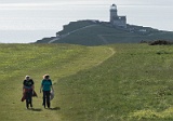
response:
<svg viewBox="0 0 173 121"><path fill-rule="evenodd" d="M45 106L48 106L48 108L50 108L50 94L51 94L51 91L43 91L43 106L45 108Z"/></svg>

